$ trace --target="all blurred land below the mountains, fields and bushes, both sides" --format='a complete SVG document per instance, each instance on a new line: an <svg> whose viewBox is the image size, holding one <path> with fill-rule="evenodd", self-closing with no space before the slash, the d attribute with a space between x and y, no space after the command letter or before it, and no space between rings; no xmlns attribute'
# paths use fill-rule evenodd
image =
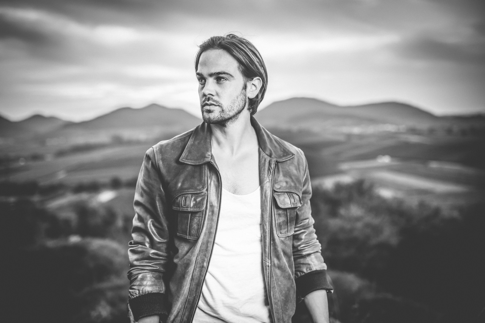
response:
<svg viewBox="0 0 485 323"><path fill-rule="evenodd" d="M483 137L273 130L308 161L315 229L336 288L334 322L451 323L479 310L485 284L476 283L475 260L462 249L484 254ZM21 241L17 251L44 268L31 279L48 277L67 295L55 298L64 311L51 322L127 322L134 185L156 142L2 144L2 227L25 228L4 236ZM416 272L413 263L429 269ZM28 275L24 269L11 276ZM467 296L451 304L436 277L456 272ZM50 288L36 284L32 303ZM41 300L32 311L24 316L49 317L52 307Z"/></svg>

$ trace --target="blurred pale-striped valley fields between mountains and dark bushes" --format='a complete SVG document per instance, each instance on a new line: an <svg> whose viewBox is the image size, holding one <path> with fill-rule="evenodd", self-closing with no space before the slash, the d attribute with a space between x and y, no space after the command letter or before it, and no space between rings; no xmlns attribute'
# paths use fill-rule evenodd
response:
<svg viewBox="0 0 485 323"><path fill-rule="evenodd" d="M379 132L335 134L274 129L282 139L305 152L315 185L365 179L387 198L413 203L466 205L479 202L485 191L485 139L473 136L416 135ZM60 143L36 160L36 145L26 146L1 168L0 180L36 181L40 185L109 183L134 180L143 156L156 140L75 146ZM330 187L332 186L330 185Z"/></svg>

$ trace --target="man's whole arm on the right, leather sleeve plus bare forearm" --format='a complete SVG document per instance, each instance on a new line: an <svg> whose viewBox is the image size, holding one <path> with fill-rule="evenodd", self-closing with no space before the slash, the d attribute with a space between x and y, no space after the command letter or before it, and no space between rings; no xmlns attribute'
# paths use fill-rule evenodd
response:
<svg viewBox="0 0 485 323"><path fill-rule="evenodd" d="M314 220L311 216L311 185L308 164L304 161L303 190L301 207L297 209L293 233L293 261L295 264L295 284L300 299L305 304L315 323L328 322L327 291L333 291L326 277L327 266L321 255L321 245L317 240Z"/></svg>

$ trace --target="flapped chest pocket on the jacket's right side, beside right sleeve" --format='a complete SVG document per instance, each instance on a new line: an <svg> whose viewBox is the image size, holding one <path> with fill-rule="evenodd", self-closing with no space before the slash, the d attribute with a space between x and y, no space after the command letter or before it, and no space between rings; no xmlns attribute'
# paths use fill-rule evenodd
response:
<svg viewBox="0 0 485 323"><path fill-rule="evenodd" d="M301 206L300 196L293 192L273 192L276 203L275 224L278 237L289 237L295 229L296 209Z"/></svg>

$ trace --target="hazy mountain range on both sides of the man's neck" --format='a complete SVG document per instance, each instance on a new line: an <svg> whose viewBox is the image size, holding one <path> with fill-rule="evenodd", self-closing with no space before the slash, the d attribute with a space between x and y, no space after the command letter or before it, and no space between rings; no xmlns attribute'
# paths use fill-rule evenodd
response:
<svg viewBox="0 0 485 323"><path fill-rule="evenodd" d="M348 132L349 129L372 129L383 124L423 129L450 125L483 128L485 125L485 118L480 115L438 117L398 102L339 106L307 97L274 102L261 109L256 118L267 128L308 129L317 132L322 129ZM66 144L106 142L115 137L147 140L167 138L192 129L201 121L184 110L150 104L141 109L120 108L78 123L38 114L19 122L0 116L0 137L35 138L39 142L61 141Z"/></svg>

